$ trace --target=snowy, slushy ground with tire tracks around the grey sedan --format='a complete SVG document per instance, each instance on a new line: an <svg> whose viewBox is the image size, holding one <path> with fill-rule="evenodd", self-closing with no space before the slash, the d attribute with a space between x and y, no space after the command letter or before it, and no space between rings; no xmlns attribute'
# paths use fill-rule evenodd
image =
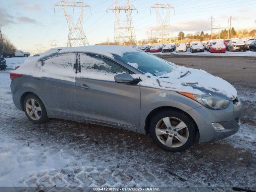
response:
<svg viewBox="0 0 256 192"><path fill-rule="evenodd" d="M6 59L8 68L23 61ZM255 85L234 83L244 105L237 134L170 153L134 132L57 119L32 124L12 102L9 73L0 71L0 186L256 189Z"/></svg>

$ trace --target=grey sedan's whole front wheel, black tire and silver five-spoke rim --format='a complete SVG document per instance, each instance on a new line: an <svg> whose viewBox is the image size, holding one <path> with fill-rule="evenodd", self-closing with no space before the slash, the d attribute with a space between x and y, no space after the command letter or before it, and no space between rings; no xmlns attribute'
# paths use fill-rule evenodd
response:
<svg viewBox="0 0 256 192"><path fill-rule="evenodd" d="M151 119L150 135L160 148L171 152L182 152L194 143L196 124L184 112L166 110Z"/></svg>

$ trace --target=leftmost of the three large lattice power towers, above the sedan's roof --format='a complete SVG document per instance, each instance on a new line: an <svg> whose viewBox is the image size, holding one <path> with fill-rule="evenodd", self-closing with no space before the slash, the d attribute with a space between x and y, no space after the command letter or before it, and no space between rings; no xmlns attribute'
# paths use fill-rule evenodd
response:
<svg viewBox="0 0 256 192"><path fill-rule="evenodd" d="M54 5L54 12L55 12L55 6L61 6L66 16L66 20L69 28L67 46L74 47L74 46L89 45L89 42L86 38L84 29L83 29L83 12L84 12L84 7L89 7L89 8L91 7L80 0L79 1L61 0L60 2ZM72 7L73 13L74 13L74 8L80 8L80 16L76 23L74 23L74 21L70 17L70 14L68 14L67 7Z"/></svg>

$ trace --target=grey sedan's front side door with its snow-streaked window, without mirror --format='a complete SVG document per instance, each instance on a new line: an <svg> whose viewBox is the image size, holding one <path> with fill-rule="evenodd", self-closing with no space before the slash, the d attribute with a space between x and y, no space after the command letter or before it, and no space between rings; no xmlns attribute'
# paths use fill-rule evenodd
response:
<svg viewBox="0 0 256 192"><path fill-rule="evenodd" d="M78 55L76 96L81 118L138 128L140 87L114 81L118 73L129 71L116 62L94 54Z"/></svg>

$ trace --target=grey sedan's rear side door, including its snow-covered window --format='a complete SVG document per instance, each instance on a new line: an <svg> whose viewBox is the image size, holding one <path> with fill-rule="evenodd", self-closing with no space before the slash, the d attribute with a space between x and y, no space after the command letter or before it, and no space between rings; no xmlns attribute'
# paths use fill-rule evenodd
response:
<svg viewBox="0 0 256 192"><path fill-rule="evenodd" d="M34 84L44 104L53 113L78 115L76 102L76 53L58 54L38 63Z"/></svg>

